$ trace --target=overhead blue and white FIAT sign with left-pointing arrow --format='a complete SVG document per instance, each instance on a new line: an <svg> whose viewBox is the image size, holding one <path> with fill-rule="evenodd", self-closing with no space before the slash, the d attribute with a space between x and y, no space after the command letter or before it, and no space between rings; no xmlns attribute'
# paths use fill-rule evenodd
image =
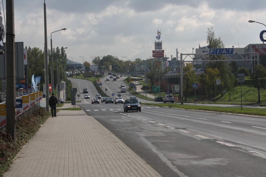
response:
<svg viewBox="0 0 266 177"><path fill-rule="evenodd" d="M209 49L196 49L196 55L234 55L245 54L244 48L209 48Z"/></svg>

